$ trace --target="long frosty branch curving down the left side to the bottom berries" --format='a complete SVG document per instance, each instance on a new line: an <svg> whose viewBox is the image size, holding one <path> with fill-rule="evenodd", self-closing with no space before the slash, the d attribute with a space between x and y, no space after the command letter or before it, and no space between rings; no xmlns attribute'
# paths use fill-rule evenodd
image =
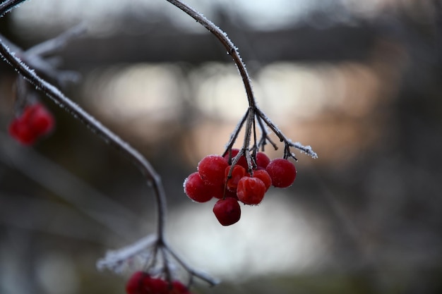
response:
<svg viewBox="0 0 442 294"><path fill-rule="evenodd" d="M18 4L22 3L25 0L6 0L0 4L0 16L4 16L5 13L11 11L12 8L16 7ZM66 33L63 35L61 39L68 39L73 34L72 32ZM60 44L63 42L59 42L60 39L53 39L52 41L47 42L46 44L42 44L38 47L34 47L30 50L30 55L35 56L35 54L42 54L52 51L53 49L58 49ZM87 111L83 110L80 106L75 104L71 99L66 97L57 87L52 85L40 77L39 73L37 73L37 68L30 68L30 66L41 65L42 63L35 62L37 59L25 60L23 56L23 51L20 51L18 47L11 44L6 44L4 37L0 38L0 55L9 65L11 65L17 73L23 76L25 80L34 85L38 90L43 92L49 99L52 99L53 102L61 106L62 109L68 111L74 118L77 118L79 121L84 123L93 133L99 135L105 142L109 145L117 149L121 154L128 157L129 160L135 164L138 169L141 171L145 179L147 180L150 187L153 189L155 202L157 204L157 231L155 233L155 238L146 237L143 238L138 243L134 245L129 245L129 247L124 247L123 250L117 250L113 253L109 253L106 257L101 260L100 266L112 267L112 264L116 264L118 262L124 262L133 255L142 254L145 250L148 250L149 247L154 247L154 254L160 251L163 252L171 252L169 245L167 245L165 240L165 221L167 214L167 205L166 205L166 196L165 190L162 185L162 181L158 173L153 169L153 166L143 157L143 155L138 152L136 149L131 147L129 143L122 140L118 135L113 133L107 127L102 125L99 121L97 121L93 116L91 116ZM21 58L20 58L21 57ZM26 64L26 61L30 61L30 64ZM174 256L175 259L181 264L184 269L189 271L191 277L196 276L201 278L203 281L206 281L210 285L214 285L217 283L213 278L207 276L205 274L200 274L198 271L191 269L187 264L182 262L182 259L177 258L177 255L174 253L170 253ZM163 261L167 259L167 257L163 254ZM109 261L110 260L110 261ZM165 263L165 271L169 271L169 267L171 265L169 262Z"/></svg>

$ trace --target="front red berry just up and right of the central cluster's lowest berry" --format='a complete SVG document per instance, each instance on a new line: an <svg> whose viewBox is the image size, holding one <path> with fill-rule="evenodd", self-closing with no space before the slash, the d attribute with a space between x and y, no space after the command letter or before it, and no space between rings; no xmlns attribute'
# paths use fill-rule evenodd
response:
<svg viewBox="0 0 442 294"><path fill-rule="evenodd" d="M238 183L237 196L244 204L259 204L265 194L265 184L259 178L245 176Z"/></svg>

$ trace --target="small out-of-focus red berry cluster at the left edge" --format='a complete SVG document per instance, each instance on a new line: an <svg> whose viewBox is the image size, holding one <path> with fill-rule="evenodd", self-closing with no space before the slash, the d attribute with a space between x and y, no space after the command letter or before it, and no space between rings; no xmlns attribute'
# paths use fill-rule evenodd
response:
<svg viewBox="0 0 442 294"><path fill-rule="evenodd" d="M54 128L54 117L42 105L33 104L25 107L23 113L14 118L9 125L9 135L23 145L32 145Z"/></svg>

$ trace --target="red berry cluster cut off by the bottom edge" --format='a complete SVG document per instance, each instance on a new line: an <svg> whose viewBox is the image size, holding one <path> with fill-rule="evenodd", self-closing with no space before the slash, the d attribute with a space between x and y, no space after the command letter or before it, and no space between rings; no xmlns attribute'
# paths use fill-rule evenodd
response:
<svg viewBox="0 0 442 294"><path fill-rule="evenodd" d="M180 281L169 283L153 278L145 271L136 271L126 283L127 294L191 294Z"/></svg>

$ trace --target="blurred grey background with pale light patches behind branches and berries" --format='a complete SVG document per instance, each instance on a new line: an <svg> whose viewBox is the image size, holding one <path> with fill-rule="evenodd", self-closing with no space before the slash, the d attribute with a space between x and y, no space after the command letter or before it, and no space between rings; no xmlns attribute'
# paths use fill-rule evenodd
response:
<svg viewBox="0 0 442 294"><path fill-rule="evenodd" d="M195 293L442 293L440 1L187 2L239 48L265 114L318 153L229 227L182 190L247 107L213 35L159 0L27 1L0 30L26 49L88 28L59 54L82 75L62 91L162 176L170 242L222 279ZM0 73L0 293L124 293L95 263L155 230L153 192L46 97L54 133L14 142L16 75Z"/></svg>

